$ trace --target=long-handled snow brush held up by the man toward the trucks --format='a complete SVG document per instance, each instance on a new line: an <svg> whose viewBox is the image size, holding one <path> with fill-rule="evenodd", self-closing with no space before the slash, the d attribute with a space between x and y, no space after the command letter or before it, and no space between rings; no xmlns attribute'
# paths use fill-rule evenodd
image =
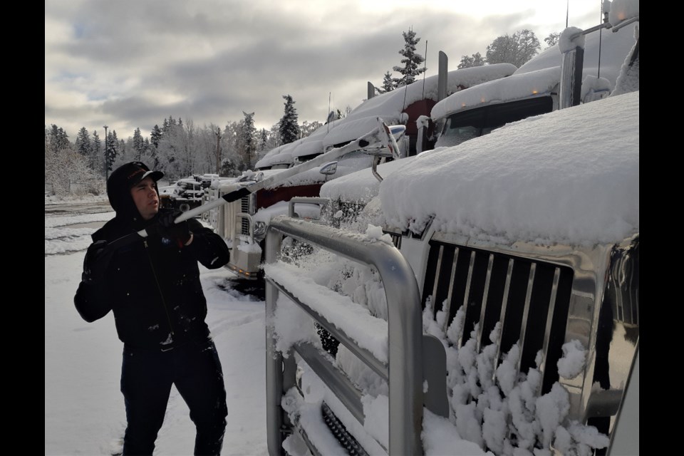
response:
<svg viewBox="0 0 684 456"><path fill-rule="evenodd" d="M400 135L404 132L405 127L403 125L393 125L392 129L395 130L395 133ZM187 219L191 219L192 217L197 217L199 214L203 214L204 212L214 209L215 207L237 201L242 197L246 197L247 195L252 195L252 193L258 192L265 187L271 187L279 182L289 179L294 175L298 175L300 172L309 171L315 167L325 165L327 162L336 160L342 155L360 149L377 150L378 152L387 150L395 160L400 158L399 148L392 132L390 131L390 128L383 122L381 118L378 117L378 126L369 133L366 133L366 135L363 135L361 138L358 138L347 145L343 145L342 147L336 147L335 149L328 150L328 152L318 155L318 157L312 160L283 170L275 175L266 177L266 179L259 182L254 182L252 185L247 185L246 187L242 187L238 190L233 190L232 192L229 192L220 198L214 199L212 202L202 204L202 206L195 207L195 209L190 209L187 212L183 212L176 217L173 222L176 224L184 222ZM147 237L148 232L156 232L155 227L156 225L151 225L150 227L141 229L138 232L127 234L119 239L115 239L109 243L107 248L118 249L119 247L123 247L127 244L135 242L140 238L145 238Z"/></svg>

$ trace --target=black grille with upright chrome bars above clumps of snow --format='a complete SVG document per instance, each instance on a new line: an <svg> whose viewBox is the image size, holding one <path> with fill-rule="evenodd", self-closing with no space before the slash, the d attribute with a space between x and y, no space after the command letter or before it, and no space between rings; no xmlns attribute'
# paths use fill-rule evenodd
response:
<svg viewBox="0 0 684 456"><path fill-rule="evenodd" d="M465 323L458 346L479 322L477 351L490 343L489 333L500 321L497 363L519 341L518 369L527 372L536 366L541 351L544 394L558 380L556 362L563 354L573 274L567 266L432 240L423 303L431 295L435 314L448 315L444 329L463 307Z"/></svg>

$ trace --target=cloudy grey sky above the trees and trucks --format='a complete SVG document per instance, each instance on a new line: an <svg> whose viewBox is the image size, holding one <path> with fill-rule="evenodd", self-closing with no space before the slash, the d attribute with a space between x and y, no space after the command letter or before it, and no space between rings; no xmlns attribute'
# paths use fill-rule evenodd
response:
<svg viewBox="0 0 684 456"><path fill-rule="evenodd" d="M598 24L600 0L569 0L569 25ZM504 33L561 31L566 0L46 0L45 124L71 140L103 125L144 136L172 116L202 127L254 112L270 128L296 101L300 123L356 107L421 38L427 76ZM394 76L398 76L395 73Z"/></svg>

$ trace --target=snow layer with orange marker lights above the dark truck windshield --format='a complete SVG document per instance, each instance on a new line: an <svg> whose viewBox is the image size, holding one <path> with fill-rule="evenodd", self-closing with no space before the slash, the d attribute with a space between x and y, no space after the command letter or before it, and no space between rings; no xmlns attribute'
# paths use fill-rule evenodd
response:
<svg viewBox="0 0 684 456"><path fill-rule="evenodd" d="M558 85L561 79L561 67L545 68L543 70L514 74L496 81L480 84L461 90L437 103L430 112L433 119L447 117L460 110L467 110L474 106L488 103L504 103L532 95L549 93Z"/></svg>

